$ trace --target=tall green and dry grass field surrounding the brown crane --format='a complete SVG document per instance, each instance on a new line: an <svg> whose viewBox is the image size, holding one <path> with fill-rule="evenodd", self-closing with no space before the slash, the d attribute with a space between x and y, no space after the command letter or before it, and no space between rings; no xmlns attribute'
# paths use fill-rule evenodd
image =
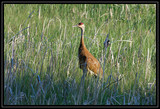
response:
<svg viewBox="0 0 160 109"><path fill-rule="evenodd" d="M82 81L79 22L103 81ZM156 5L5 4L4 104L156 105Z"/></svg>

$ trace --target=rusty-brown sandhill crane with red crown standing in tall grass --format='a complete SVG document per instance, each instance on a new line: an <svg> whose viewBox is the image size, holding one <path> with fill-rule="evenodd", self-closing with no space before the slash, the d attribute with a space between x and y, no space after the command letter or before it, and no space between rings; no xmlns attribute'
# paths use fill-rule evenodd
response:
<svg viewBox="0 0 160 109"><path fill-rule="evenodd" d="M88 51L84 44L84 30L85 26L83 23L79 23L73 27L79 27L81 29L81 40L78 50L79 67L83 70L83 73L88 71L91 75L102 77L103 70L99 61Z"/></svg>

